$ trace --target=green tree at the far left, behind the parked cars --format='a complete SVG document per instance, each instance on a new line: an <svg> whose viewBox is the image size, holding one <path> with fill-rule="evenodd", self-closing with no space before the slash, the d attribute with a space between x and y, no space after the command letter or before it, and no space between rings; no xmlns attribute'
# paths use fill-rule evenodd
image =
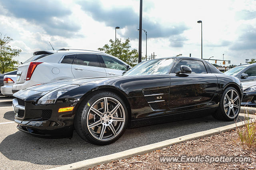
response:
<svg viewBox="0 0 256 170"><path fill-rule="evenodd" d="M9 43L13 41L12 38L4 36L0 33L0 72L6 73L13 71L18 66L19 62L13 58L19 56L21 49L12 49Z"/></svg>

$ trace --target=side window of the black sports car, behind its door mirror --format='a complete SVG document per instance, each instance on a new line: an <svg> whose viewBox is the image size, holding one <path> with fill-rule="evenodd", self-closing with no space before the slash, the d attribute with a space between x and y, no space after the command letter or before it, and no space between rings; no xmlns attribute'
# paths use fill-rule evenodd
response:
<svg viewBox="0 0 256 170"><path fill-rule="evenodd" d="M177 71L180 71L181 65L186 65L190 67L192 70L192 74L207 74L204 63L202 61L192 59L182 59L175 65L171 73L176 73Z"/></svg>

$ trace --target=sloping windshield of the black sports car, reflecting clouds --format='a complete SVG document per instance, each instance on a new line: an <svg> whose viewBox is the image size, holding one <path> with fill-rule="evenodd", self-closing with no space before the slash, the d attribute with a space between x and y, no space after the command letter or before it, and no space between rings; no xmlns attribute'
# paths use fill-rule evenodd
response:
<svg viewBox="0 0 256 170"><path fill-rule="evenodd" d="M174 61L173 58L144 61L127 71L124 76L168 74Z"/></svg>

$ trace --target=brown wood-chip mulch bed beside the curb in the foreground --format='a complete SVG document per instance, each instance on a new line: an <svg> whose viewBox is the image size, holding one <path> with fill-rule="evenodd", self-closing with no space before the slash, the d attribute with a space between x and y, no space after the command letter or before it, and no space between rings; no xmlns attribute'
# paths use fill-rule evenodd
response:
<svg viewBox="0 0 256 170"><path fill-rule="evenodd" d="M250 157L250 162L230 162L230 163L162 163L161 156L244 156ZM180 144L156 150L148 154L134 156L129 159L115 160L108 164L92 168L93 170L116 170L116 169L196 169L196 170L215 170L230 169L244 170L256 168L256 149L243 150L238 141L236 130L212 135L197 140L189 140Z"/></svg>

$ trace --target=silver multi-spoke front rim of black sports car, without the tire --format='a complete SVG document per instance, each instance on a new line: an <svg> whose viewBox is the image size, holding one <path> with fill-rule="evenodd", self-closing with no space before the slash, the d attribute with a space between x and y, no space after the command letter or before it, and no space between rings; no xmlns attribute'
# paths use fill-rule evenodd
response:
<svg viewBox="0 0 256 170"><path fill-rule="evenodd" d="M90 106L86 120L94 138L108 141L115 138L124 127L124 108L117 99L103 97Z"/></svg>

